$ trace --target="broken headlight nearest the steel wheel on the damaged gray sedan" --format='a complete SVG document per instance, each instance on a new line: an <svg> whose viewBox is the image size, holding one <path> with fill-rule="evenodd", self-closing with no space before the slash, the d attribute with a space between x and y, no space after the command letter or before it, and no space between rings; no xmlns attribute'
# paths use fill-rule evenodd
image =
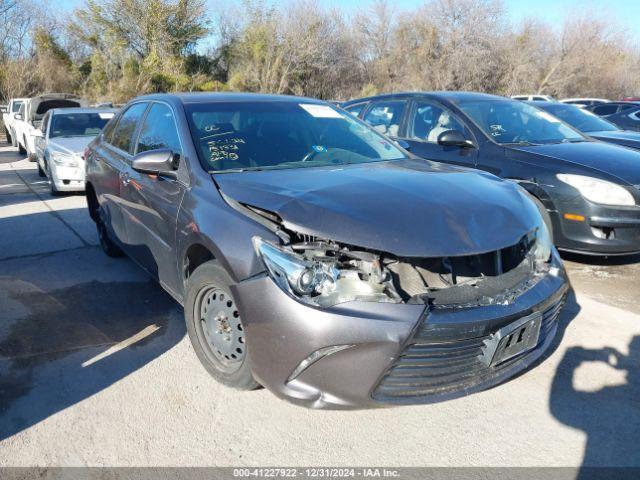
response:
<svg viewBox="0 0 640 480"><path fill-rule="evenodd" d="M273 281L305 303L401 301L375 254L324 242L280 246L260 237L253 238L253 245Z"/></svg>

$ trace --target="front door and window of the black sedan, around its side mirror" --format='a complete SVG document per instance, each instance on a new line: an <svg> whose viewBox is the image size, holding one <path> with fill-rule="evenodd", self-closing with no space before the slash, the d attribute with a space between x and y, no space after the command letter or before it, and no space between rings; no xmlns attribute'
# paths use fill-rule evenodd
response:
<svg viewBox="0 0 640 480"><path fill-rule="evenodd" d="M477 145L475 137L464 121L444 105L429 99L416 99L408 109L403 140L410 151L428 160L475 167L477 148L447 147L438 144L438 136L447 130L458 130Z"/></svg>

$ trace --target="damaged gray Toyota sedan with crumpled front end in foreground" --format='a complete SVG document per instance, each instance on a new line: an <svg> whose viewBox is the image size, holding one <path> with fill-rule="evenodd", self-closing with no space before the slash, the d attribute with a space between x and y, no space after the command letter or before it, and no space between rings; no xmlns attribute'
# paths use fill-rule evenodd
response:
<svg viewBox="0 0 640 480"><path fill-rule="evenodd" d="M184 306L218 381L314 408L496 385L550 345L568 282L525 190L413 157L309 98L136 98L90 144L102 248Z"/></svg>

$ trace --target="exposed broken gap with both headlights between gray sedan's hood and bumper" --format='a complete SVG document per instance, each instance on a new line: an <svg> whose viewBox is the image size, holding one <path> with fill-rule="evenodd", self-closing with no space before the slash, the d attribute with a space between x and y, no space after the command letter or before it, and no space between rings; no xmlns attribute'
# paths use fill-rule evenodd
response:
<svg viewBox="0 0 640 480"><path fill-rule="evenodd" d="M319 307L348 301L506 305L555 268L544 224L508 248L445 258L399 258L284 228L279 237L281 245L253 239L269 275L288 294Z"/></svg>

